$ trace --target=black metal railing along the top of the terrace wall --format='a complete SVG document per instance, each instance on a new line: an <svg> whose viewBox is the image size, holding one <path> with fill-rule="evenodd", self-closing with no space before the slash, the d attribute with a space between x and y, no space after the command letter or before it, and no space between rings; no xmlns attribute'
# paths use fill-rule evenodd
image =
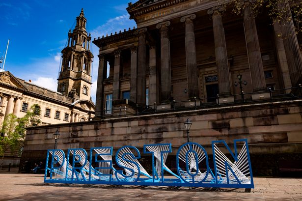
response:
<svg viewBox="0 0 302 201"><path fill-rule="evenodd" d="M290 93L285 91L291 90ZM264 94L264 95L263 95ZM257 96L258 98L253 99L252 96ZM223 98L234 98L234 101L231 102L221 102ZM239 97L239 98L238 98ZM244 93L242 91L240 94L234 94L229 96L220 96L217 94L216 97L208 98L193 98L192 100L186 101L176 101L173 99L167 103L154 103L148 106L139 106L135 107L113 107L110 110L101 111L103 118L108 117L122 117L122 116L135 116L135 115L146 115L146 114L156 114L156 113L167 113L172 111L182 111L182 110L196 110L202 108L213 108L220 107L221 105L236 105L236 104L247 104L247 103L257 103L257 102L271 102L275 100L292 100L292 99L302 99L302 85L292 88L281 88L281 89L271 89L268 88L267 91L259 91L252 93Z"/></svg>

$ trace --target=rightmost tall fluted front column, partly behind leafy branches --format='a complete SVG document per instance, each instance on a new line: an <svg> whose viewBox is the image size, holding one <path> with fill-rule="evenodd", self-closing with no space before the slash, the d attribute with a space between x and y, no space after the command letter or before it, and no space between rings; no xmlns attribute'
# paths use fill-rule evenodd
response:
<svg viewBox="0 0 302 201"><path fill-rule="evenodd" d="M299 43L295 32L289 3L287 0L279 5L287 9L284 20L281 22L282 38L288 63L289 75L292 86L302 84L302 56L299 50Z"/></svg>

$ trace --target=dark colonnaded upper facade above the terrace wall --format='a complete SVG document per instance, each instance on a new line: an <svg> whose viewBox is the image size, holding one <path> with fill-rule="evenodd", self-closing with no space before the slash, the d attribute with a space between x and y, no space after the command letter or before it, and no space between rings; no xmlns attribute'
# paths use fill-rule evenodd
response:
<svg viewBox="0 0 302 201"><path fill-rule="evenodd" d="M243 16L213 0L139 0L127 11L137 29L93 41L100 48L96 118L125 98L138 107L194 98L200 105L217 94L220 103L232 103L240 98L234 100L238 74L244 92L257 93L253 100L269 98L268 88L301 83L293 23L272 26L265 12L255 18L250 1Z"/></svg>

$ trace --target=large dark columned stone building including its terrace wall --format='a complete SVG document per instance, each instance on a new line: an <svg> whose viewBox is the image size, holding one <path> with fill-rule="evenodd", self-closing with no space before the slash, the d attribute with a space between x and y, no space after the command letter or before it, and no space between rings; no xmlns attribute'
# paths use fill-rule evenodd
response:
<svg viewBox="0 0 302 201"><path fill-rule="evenodd" d="M58 148L171 143L173 164L189 117L190 139L204 147L247 138L255 174L302 170L301 38L292 21L272 26L250 1L243 16L213 0L139 0L127 11L137 29L93 41L94 121L60 126ZM45 157L55 130L30 129L24 159Z"/></svg>

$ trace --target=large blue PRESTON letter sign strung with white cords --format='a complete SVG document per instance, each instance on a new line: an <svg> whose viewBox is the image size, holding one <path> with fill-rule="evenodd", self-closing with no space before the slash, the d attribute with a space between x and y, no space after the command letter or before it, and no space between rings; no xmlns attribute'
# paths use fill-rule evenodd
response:
<svg viewBox="0 0 302 201"><path fill-rule="evenodd" d="M134 146L117 150L116 167L112 164L112 147L91 148L89 158L82 148L68 149L67 156L60 149L51 149L47 152L44 182L254 188L246 139L234 140L234 152L224 141L213 141L212 151L214 164L210 168L203 146L183 144L176 154L177 172L172 172L165 165L168 153L172 152L171 144L146 144L143 153L152 157L150 173L139 163L140 153Z"/></svg>

